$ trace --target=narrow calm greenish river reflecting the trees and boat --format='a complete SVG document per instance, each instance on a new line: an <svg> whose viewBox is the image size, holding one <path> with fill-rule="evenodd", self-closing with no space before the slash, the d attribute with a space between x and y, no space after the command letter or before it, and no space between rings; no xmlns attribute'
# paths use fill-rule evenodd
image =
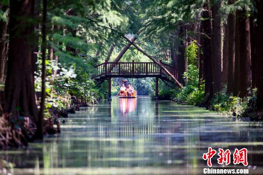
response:
<svg viewBox="0 0 263 175"><path fill-rule="evenodd" d="M24 149L0 151L14 174L200 174L212 147L247 148L248 169L262 172L262 123L219 116L169 101L113 98L61 119L62 133ZM218 157L213 167L222 167ZM229 167L239 166L231 163Z"/></svg>

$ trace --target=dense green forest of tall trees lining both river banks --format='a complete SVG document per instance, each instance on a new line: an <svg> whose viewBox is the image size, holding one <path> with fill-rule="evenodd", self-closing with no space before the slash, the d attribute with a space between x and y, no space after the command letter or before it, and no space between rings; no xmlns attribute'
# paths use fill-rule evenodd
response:
<svg viewBox="0 0 263 175"><path fill-rule="evenodd" d="M261 0L1 0L0 146L60 132L58 117L107 96L94 65L145 53L179 70L184 88L163 97L261 118L262 29ZM132 37L144 52L122 50Z"/></svg>

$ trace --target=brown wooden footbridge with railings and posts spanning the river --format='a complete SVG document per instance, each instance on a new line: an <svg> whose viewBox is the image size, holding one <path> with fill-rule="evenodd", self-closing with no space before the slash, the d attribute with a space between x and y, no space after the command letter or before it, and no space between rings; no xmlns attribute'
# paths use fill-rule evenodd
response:
<svg viewBox="0 0 263 175"><path fill-rule="evenodd" d="M155 77L155 96L158 99L158 80L159 78L165 83L173 83L170 78L172 75L178 79L178 69L162 61L154 62L107 62L94 66L96 69L93 79L97 82L108 80L109 82L109 100L111 100L111 78L146 78ZM168 73L168 72L169 73Z"/></svg>

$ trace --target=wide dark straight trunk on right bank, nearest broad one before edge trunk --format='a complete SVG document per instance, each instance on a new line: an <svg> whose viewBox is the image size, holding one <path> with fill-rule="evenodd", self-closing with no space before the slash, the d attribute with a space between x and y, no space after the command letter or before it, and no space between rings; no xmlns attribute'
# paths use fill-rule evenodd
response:
<svg viewBox="0 0 263 175"><path fill-rule="evenodd" d="M239 18L240 28L240 97L248 95L247 88L251 87L250 82L250 28L249 18L242 11L242 17Z"/></svg>

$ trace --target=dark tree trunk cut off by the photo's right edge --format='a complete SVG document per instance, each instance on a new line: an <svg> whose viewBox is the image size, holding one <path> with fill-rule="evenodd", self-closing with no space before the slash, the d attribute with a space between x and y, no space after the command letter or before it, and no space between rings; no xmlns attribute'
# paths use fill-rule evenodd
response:
<svg viewBox="0 0 263 175"><path fill-rule="evenodd" d="M256 0L256 8L258 10L257 14L257 26L255 27L256 31L256 36L257 36L257 44L256 44L256 56L258 60L258 74L260 76L258 77L257 82L257 88L258 88L258 93L257 93L257 110L262 112L263 110L263 1L262 0Z"/></svg>

